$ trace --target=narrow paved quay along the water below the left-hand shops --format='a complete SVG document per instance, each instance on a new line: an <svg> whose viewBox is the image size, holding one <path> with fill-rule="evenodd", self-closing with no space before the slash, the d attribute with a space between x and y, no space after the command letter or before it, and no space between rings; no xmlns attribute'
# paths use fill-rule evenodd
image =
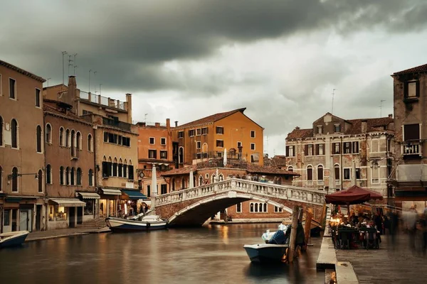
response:
<svg viewBox="0 0 427 284"><path fill-rule="evenodd" d="M26 241L41 241L44 239L56 239L64 236L79 236L84 234L105 233L110 231L108 227L97 228L69 228L69 229L56 229L48 231L34 231L28 234Z"/></svg>

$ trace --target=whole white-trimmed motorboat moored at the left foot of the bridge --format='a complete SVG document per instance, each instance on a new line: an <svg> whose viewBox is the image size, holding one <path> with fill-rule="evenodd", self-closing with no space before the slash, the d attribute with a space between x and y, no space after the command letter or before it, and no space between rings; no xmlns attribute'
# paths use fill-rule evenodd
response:
<svg viewBox="0 0 427 284"><path fill-rule="evenodd" d="M152 215L153 210L138 214L128 219L107 217L105 222L111 231L147 231L166 229L168 225L167 219L159 215Z"/></svg>

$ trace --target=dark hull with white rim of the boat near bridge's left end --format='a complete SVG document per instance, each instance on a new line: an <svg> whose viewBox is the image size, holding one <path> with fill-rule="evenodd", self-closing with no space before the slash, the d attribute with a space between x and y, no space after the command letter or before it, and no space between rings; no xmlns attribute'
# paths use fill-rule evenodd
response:
<svg viewBox="0 0 427 284"><path fill-rule="evenodd" d="M107 218L107 226L115 232L149 231L167 228L167 221L133 221L129 219Z"/></svg>

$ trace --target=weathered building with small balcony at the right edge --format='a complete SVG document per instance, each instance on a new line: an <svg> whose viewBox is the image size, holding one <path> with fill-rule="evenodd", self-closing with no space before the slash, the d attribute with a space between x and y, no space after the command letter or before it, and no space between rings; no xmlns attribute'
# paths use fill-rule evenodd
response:
<svg viewBox="0 0 427 284"><path fill-rule="evenodd" d="M418 212L426 207L427 192L427 65L395 72L393 179L395 203Z"/></svg>

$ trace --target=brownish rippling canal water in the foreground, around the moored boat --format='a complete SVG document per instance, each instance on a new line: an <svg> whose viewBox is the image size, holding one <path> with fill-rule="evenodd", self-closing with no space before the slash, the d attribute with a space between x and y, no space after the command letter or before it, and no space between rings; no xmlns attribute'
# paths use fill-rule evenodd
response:
<svg viewBox="0 0 427 284"><path fill-rule="evenodd" d="M324 283L321 240L292 266L260 266L243 244L278 224L209 225L132 234L88 234L0 250L0 283Z"/></svg>

